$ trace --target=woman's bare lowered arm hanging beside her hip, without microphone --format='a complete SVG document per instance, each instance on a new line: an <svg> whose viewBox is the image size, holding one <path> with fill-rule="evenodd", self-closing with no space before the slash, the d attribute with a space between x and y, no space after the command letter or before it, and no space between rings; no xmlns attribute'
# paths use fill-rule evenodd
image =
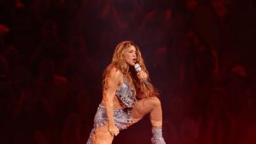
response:
<svg viewBox="0 0 256 144"><path fill-rule="evenodd" d="M115 96L123 74L118 69L112 68L106 77L108 78L106 78L106 84L103 89L103 101L107 107L108 130L112 135L118 135L119 129L116 127L113 120L113 97Z"/></svg>

